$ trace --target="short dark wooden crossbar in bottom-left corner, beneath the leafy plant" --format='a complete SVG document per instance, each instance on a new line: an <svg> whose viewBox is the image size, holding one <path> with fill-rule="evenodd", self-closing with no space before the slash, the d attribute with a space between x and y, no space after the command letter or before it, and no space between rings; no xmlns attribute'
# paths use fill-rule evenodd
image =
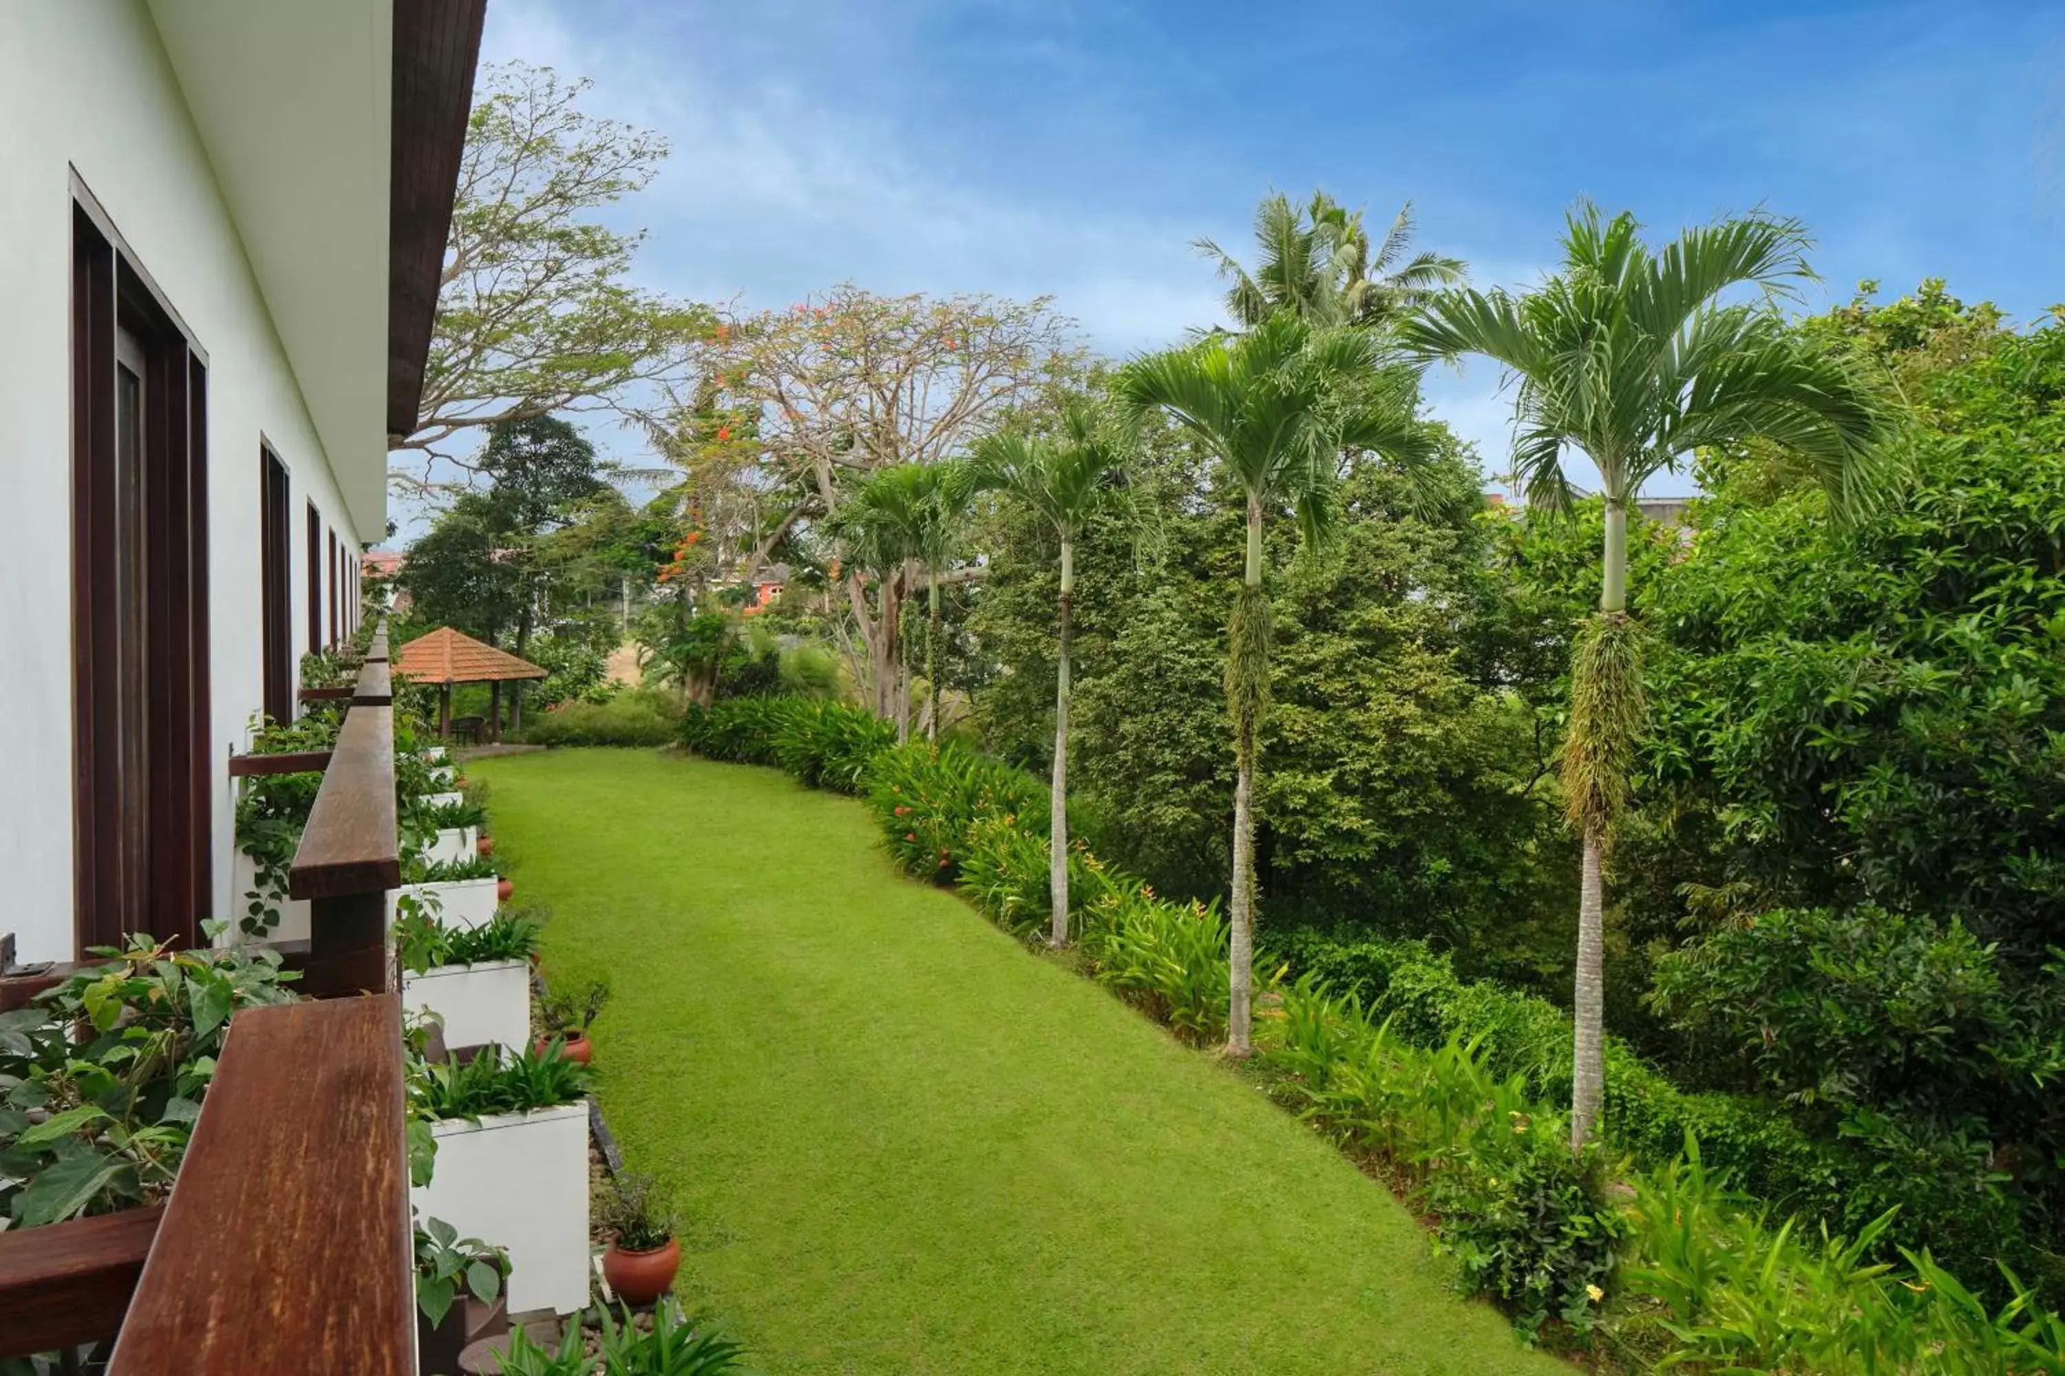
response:
<svg viewBox="0 0 2065 1376"><path fill-rule="evenodd" d="M0 1359L114 1337L159 1215L153 1205L0 1234Z"/></svg>

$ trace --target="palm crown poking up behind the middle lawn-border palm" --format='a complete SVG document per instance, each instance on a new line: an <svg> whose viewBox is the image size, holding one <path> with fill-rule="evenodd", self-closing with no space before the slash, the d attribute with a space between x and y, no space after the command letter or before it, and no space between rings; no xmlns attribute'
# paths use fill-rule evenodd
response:
<svg viewBox="0 0 2065 1376"><path fill-rule="evenodd" d="M1348 210L1326 192L1313 192L1299 208L1274 192L1256 208L1260 260L1253 272L1212 239L1196 245L1231 281L1227 314L1251 330L1282 309L1317 326L1396 320L1433 291L1462 281L1460 260L1406 258L1410 243L1412 202L1400 206L1384 243L1371 252L1361 210Z"/></svg>

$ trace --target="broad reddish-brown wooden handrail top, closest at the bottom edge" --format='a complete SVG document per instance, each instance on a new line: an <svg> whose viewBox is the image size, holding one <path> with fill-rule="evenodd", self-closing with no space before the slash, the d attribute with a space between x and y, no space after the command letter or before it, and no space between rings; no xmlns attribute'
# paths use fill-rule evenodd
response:
<svg viewBox="0 0 2065 1376"><path fill-rule="evenodd" d="M413 1376L415 1258L394 994L244 1009L112 1376Z"/></svg>

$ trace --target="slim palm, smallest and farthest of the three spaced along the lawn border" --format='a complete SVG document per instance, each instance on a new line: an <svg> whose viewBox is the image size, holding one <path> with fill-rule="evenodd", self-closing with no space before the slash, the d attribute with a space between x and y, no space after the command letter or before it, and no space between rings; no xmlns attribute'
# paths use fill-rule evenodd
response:
<svg viewBox="0 0 2065 1376"><path fill-rule="evenodd" d="M1057 435L1002 431L975 448L977 485L1032 507L1061 543L1061 637L1053 689L1053 817L1047 829L1047 945L1068 945L1068 650L1074 631L1076 538L1103 514L1132 514L1127 435L1084 398L1061 408Z"/></svg>

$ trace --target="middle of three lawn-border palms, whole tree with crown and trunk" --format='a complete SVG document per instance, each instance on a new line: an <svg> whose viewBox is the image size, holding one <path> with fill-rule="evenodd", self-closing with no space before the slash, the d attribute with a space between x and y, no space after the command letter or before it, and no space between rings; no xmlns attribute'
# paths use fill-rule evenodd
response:
<svg viewBox="0 0 2065 1376"><path fill-rule="evenodd" d="M1270 604L1262 592L1262 524L1297 514L1307 547L1336 524L1342 450L1379 450L1419 464L1429 446L1415 423L1419 373L1384 353L1375 330L1313 328L1293 312L1245 334L1134 359L1113 392L1138 411L1167 411L1239 487L1247 563L1227 633L1227 714L1233 720L1233 972L1227 1052L1249 1052L1256 932L1256 757L1268 708Z"/></svg>

